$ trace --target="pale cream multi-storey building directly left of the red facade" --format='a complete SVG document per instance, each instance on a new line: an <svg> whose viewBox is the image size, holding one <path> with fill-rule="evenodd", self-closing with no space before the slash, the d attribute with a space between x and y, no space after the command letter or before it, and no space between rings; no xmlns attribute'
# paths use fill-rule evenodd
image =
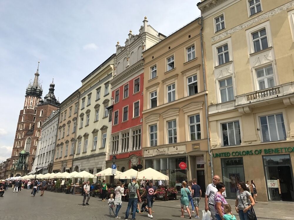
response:
<svg viewBox="0 0 294 220"><path fill-rule="evenodd" d="M74 171L86 170L95 174L105 169L111 134L108 107L111 105L109 82L113 78L114 56L111 55L82 79L82 86L78 89L80 98Z"/></svg>

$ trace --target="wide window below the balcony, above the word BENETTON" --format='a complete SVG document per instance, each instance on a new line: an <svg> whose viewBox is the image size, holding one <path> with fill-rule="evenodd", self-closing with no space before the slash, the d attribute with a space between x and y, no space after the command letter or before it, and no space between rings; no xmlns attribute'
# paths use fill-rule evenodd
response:
<svg viewBox="0 0 294 220"><path fill-rule="evenodd" d="M260 117L262 140L280 141L286 139L283 114L274 114Z"/></svg>

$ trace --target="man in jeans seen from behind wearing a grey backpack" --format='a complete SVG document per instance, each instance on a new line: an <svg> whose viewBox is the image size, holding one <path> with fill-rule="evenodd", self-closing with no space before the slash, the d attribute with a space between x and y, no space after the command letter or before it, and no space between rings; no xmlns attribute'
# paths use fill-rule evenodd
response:
<svg viewBox="0 0 294 220"><path fill-rule="evenodd" d="M136 220L136 209L137 209L138 199L139 199L139 202L142 202L142 200L139 193L139 185L138 183L136 183L135 176L132 177L132 182L128 184L128 194L129 194L129 201L128 201L128 207L126 210L126 217L124 218L124 220L128 220L131 206L133 206L132 219Z"/></svg>

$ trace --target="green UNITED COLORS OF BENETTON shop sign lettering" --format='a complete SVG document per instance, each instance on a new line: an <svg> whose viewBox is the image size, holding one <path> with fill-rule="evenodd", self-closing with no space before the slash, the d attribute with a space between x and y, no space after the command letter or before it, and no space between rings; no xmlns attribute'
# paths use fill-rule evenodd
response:
<svg viewBox="0 0 294 220"><path fill-rule="evenodd" d="M213 153L214 158L229 157L229 156L248 156L248 155L260 155L260 154L276 154L276 153L291 153L294 152L294 147L287 148L268 148L268 149L256 149L256 150L243 150L223 153Z"/></svg>

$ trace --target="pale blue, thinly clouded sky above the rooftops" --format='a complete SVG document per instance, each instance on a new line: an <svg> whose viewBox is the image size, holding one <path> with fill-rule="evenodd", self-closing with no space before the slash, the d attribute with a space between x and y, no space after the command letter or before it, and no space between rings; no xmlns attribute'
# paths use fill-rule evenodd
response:
<svg viewBox="0 0 294 220"><path fill-rule="evenodd" d="M54 78L62 102L91 73L138 34L144 17L169 35L200 16L198 1L0 1L0 162L11 156L26 87L38 61L43 97Z"/></svg>

